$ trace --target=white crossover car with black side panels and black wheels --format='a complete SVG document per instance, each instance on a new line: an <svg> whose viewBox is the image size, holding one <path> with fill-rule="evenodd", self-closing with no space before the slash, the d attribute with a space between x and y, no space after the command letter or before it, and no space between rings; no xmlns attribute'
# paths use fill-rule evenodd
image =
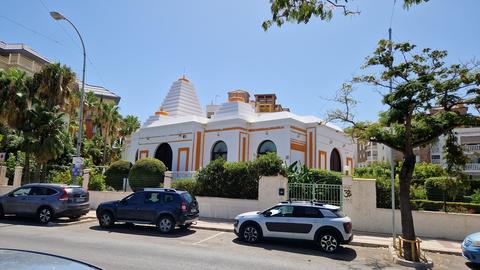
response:
<svg viewBox="0 0 480 270"><path fill-rule="evenodd" d="M312 240L329 253L353 239L352 221L340 207L305 201L287 201L263 212L240 214L234 229L249 243L264 237Z"/></svg>

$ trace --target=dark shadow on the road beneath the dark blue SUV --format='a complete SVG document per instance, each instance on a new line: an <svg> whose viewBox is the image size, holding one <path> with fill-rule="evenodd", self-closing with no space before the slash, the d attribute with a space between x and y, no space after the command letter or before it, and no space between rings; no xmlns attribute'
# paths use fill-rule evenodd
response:
<svg viewBox="0 0 480 270"><path fill-rule="evenodd" d="M164 238L179 238L187 235L194 234L194 230L186 229L175 229L173 233L170 234L161 234L157 227L154 225L134 225L134 224L115 224L111 228L102 228L99 225L91 226L90 230L95 231L105 231L109 233L124 233L124 234L137 234L144 236L157 236Z"/></svg>

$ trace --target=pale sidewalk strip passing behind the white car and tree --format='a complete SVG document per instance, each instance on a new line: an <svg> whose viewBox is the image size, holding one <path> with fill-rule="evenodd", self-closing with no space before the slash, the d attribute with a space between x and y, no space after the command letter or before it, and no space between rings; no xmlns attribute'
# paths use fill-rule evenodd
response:
<svg viewBox="0 0 480 270"><path fill-rule="evenodd" d="M192 227L203 230L233 232L233 220L201 218L197 222L197 224L193 225ZM453 255L462 254L462 250L460 248L460 241L432 238L421 239L421 246L424 251ZM392 244L392 237L385 234L374 234L354 231L353 241L350 244L354 246L388 247Z"/></svg>

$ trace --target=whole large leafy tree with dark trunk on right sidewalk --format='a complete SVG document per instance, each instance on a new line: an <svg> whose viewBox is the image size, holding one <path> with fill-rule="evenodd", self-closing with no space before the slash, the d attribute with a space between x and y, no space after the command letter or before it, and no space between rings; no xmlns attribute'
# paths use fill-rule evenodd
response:
<svg viewBox="0 0 480 270"><path fill-rule="evenodd" d="M400 211L402 234L408 240L416 239L410 205L414 149L433 142L440 135L450 134L456 127L480 124L478 115L465 112L465 107L479 105L477 65L447 65L446 56L446 51L417 50L410 43L381 40L363 67L371 73L353 79L354 84L379 90L386 106L380 119L367 123L354 118L352 109L356 102L351 97L351 84L344 85L337 96L345 108L329 113L331 119L351 123L351 131L357 138L382 143L403 153L399 173ZM447 144L445 150L450 155L461 153L455 143ZM406 258L412 259L410 245L404 248Z"/></svg>

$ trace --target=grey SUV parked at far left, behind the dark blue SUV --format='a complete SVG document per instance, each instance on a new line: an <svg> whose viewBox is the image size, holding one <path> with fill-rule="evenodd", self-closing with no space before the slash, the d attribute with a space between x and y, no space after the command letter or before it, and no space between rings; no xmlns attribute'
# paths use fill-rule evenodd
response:
<svg viewBox="0 0 480 270"><path fill-rule="evenodd" d="M79 186L27 184L0 196L0 218L34 216L41 223L58 217L78 219L88 213L88 199L88 191Z"/></svg>

